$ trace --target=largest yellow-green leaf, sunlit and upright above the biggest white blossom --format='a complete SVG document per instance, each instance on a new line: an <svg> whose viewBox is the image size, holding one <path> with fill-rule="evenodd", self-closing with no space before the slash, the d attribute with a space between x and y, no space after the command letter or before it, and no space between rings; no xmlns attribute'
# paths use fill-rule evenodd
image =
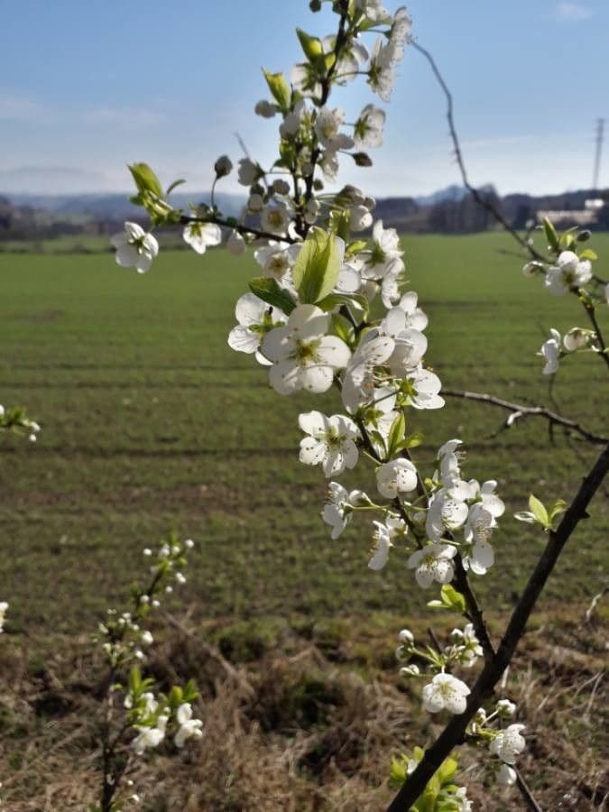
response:
<svg viewBox="0 0 609 812"><path fill-rule="evenodd" d="M311 228L292 270L300 301L315 304L325 299L337 283L339 268L337 237L322 228Z"/></svg>

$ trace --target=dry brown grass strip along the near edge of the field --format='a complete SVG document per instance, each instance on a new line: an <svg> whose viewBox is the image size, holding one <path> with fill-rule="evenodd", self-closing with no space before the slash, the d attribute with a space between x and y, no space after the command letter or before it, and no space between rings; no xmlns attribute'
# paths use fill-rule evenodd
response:
<svg viewBox="0 0 609 812"><path fill-rule="evenodd" d="M581 612L583 616L583 610ZM561 612L538 621L512 666L506 694L527 724L521 770L546 812L604 808L609 776L604 633ZM296 624L298 625L298 624ZM363 634L362 621L300 633L287 623L185 630L151 663L161 686L195 678L205 736L134 765L146 812L272 812L383 809L393 754L439 727L420 714L396 677L392 636ZM391 627L389 627L391 628ZM278 631L280 630L280 631ZM203 641L205 632L205 642ZM422 630L421 630L422 632ZM230 662L219 650L229 651ZM100 663L85 640L3 641L0 722L8 812L87 808L97 784ZM254 659L253 659L254 658ZM245 660L245 661L244 661ZM476 808L525 808L515 790L484 780L464 749L464 782Z"/></svg>

